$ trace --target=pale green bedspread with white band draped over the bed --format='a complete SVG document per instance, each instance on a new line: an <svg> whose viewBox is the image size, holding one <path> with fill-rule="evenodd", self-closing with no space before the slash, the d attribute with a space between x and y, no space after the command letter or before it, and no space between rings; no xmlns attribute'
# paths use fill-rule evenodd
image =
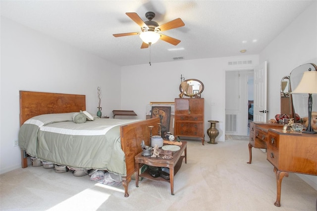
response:
<svg viewBox="0 0 317 211"><path fill-rule="evenodd" d="M100 118L76 124L73 114L44 114L27 120L19 131L20 148L55 164L126 176L120 125L137 120Z"/></svg>

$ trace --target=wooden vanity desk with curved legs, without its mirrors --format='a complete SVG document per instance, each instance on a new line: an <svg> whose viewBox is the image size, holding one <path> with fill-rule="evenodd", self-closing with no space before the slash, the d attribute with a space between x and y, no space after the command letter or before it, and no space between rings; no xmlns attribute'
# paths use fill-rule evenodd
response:
<svg viewBox="0 0 317 211"><path fill-rule="evenodd" d="M266 159L274 166L276 176L276 202L280 207L281 185L289 172L317 175L317 135L297 131L284 131L282 124L251 122L249 164L252 147L267 149Z"/></svg>

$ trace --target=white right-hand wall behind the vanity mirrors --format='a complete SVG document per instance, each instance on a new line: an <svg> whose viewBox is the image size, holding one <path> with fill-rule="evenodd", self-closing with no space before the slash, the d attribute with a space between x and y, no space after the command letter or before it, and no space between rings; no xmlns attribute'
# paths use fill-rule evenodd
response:
<svg viewBox="0 0 317 211"><path fill-rule="evenodd" d="M280 113L280 81L299 65L317 64L317 2L314 2L260 53L267 60L269 118ZM317 139L317 138L316 138ZM317 141L317 140L316 140ZM298 174L317 190L317 176Z"/></svg>

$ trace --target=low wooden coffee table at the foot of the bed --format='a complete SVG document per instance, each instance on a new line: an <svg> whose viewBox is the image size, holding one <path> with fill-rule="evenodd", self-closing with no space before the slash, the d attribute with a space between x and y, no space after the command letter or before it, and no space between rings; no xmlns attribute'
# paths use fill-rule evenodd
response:
<svg viewBox="0 0 317 211"><path fill-rule="evenodd" d="M160 155L159 158L152 158L151 156L143 156L142 153L135 156L135 185L139 187L139 176L152 180L169 182L170 193L171 195L174 195L174 176L180 169L183 158L185 158L185 163L187 163L187 142L183 141L182 143L182 146L179 146L180 150L173 153L172 159L163 159L162 155ZM183 152L184 155L182 155ZM147 169L144 173L139 175L139 168L141 167L142 163L156 167L168 167L169 180L166 180L160 176L157 178L151 176L149 173L150 169Z"/></svg>

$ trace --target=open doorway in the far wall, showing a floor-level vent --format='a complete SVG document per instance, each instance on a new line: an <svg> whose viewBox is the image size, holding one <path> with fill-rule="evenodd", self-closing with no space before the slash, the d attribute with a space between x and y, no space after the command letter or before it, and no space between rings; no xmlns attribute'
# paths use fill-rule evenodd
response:
<svg viewBox="0 0 317 211"><path fill-rule="evenodd" d="M253 70L226 71L225 84L225 134L248 136L253 120Z"/></svg>

